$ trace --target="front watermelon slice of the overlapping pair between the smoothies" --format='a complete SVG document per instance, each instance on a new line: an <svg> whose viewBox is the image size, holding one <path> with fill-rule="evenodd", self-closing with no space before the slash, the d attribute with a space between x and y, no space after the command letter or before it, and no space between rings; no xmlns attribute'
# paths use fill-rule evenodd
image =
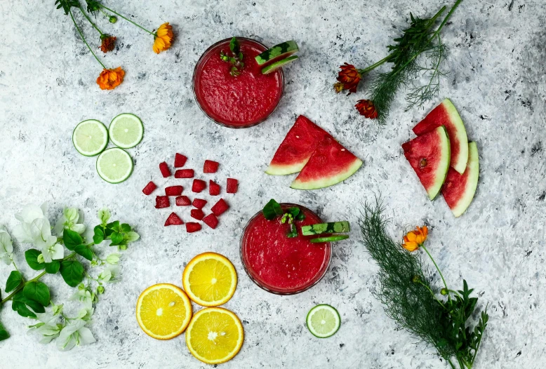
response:
<svg viewBox="0 0 546 369"><path fill-rule="evenodd" d="M362 161L333 137L324 138L307 164L292 182L293 189L319 189L346 180L362 166Z"/></svg>

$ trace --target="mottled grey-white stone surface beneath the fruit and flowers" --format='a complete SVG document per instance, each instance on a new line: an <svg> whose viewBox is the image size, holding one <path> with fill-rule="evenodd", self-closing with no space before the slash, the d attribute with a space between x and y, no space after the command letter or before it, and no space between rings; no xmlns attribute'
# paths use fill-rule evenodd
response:
<svg viewBox="0 0 546 369"><path fill-rule="evenodd" d="M451 5L453 1L447 1ZM425 110L404 112L404 96L394 103L387 126L379 131L352 105L366 96L366 84L349 98L331 89L337 67L364 67L385 56L387 43L406 27L409 11L431 15L444 1L105 1L153 28L171 22L177 40L161 55L152 38L120 20L98 23L118 37L119 48L100 58L126 70L124 83L111 92L95 84L100 67L53 0L0 2L4 36L0 46L0 223L13 229L13 215L26 203L48 201L50 219L63 206L82 208L90 222L102 206L137 224L142 241L122 259L123 282L107 288L91 329L98 342L67 353L27 336L29 320L11 311L0 319L11 332L0 343L2 368L205 368L187 351L183 335L153 340L134 317L135 301L159 282L180 286L185 263L213 250L229 257L239 286L226 307L244 321L244 347L225 368L446 368L434 351L397 330L374 300L375 264L359 243L357 227L349 241L334 246L326 278L292 297L270 295L244 274L239 260L241 229L270 198L309 206L325 220L356 225L357 203L382 192L394 225L430 224L430 250L452 286L462 277L489 304L490 327L476 368L542 368L546 361L545 267L545 98L544 41L546 6L542 0L463 1L443 39L449 46L436 101ZM81 14L76 13L81 22ZM95 47L97 34L84 27ZM221 128L208 121L194 102L191 82L199 55L215 41L248 36L273 45L295 39L299 62L285 69L286 90L276 112L260 126ZM430 202L400 145L411 127L442 98L458 107L471 140L478 143L480 180L470 209L455 219L443 199ZM129 152L132 177L109 185L95 172L95 160L79 155L70 140L81 120L108 123L121 112L138 114L145 138ZM334 187L299 192L291 177L263 173L274 149L305 114L330 130L364 167ZM157 165L175 152L188 166L204 159L222 163L218 177L241 180L239 193L227 196L231 210L215 231L186 234L164 228L168 209L154 209L153 196L140 192L149 180L158 185ZM169 184L174 180L168 181ZM189 211L189 210L188 210ZM182 213L188 218L189 214ZM394 236L401 236L392 229ZM16 261L33 276L16 244ZM0 267L4 286L9 267ZM53 299L72 293L58 276L46 276ZM305 314L318 303L337 307L340 331L318 340L305 328ZM68 305L67 305L68 306Z"/></svg>

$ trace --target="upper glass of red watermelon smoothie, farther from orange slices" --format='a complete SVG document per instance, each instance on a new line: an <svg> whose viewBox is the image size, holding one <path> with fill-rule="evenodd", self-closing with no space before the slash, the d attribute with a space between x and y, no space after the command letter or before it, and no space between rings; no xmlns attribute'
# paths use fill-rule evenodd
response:
<svg viewBox="0 0 546 369"><path fill-rule="evenodd" d="M197 105L220 126L248 128L262 123L279 105L284 88L282 69L262 74L255 56L267 47L253 39L237 37L244 67L239 76L229 74L231 65L220 59L229 52L231 39L208 48L194 69L193 90Z"/></svg>

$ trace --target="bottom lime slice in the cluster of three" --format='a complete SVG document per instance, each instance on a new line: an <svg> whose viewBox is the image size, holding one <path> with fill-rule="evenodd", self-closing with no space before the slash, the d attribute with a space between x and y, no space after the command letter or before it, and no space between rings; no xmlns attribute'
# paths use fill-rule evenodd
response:
<svg viewBox="0 0 546 369"><path fill-rule="evenodd" d="M133 159L122 149L107 149L97 158L97 172L106 182L124 182L133 173Z"/></svg>

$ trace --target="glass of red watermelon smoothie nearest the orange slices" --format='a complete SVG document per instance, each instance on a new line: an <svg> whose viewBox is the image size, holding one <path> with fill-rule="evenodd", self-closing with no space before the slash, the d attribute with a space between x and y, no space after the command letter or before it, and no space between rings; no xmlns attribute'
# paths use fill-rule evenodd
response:
<svg viewBox="0 0 546 369"><path fill-rule="evenodd" d="M317 236L302 236L301 227L321 223L321 218L304 206L281 203L286 210L298 206L305 219L295 221L298 236L288 238L289 224L266 220L256 213L241 236L241 261L246 274L260 288L277 295L301 293L319 283L328 270L331 243L311 243Z"/></svg>

